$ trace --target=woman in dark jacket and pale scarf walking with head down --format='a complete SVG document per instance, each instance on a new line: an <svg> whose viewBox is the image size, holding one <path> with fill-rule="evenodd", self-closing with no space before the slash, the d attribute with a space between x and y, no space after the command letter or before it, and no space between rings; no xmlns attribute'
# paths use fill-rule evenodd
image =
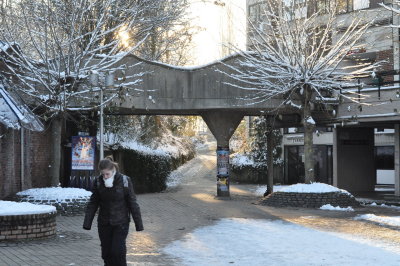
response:
<svg viewBox="0 0 400 266"><path fill-rule="evenodd" d="M93 184L93 194L86 207L83 229L91 229L99 209L97 224L104 265L125 266L130 215L136 231L144 230L140 207L136 202L131 179L118 172L117 163L106 158L99 162L98 168L100 176Z"/></svg>

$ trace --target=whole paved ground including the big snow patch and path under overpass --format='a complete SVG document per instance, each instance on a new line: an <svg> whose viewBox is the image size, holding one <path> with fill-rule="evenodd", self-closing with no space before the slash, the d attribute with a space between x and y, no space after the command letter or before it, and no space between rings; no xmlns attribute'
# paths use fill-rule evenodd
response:
<svg viewBox="0 0 400 266"><path fill-rule="evenodd" d="M215 148L174 172L166 192L138 195L145 231L131 224L129 265L400 265L399 209L271 208L253 204L257 186L235 184L219 200ZM0 242L0 265L102 265L96 223L82 223L59 216L55 239Z"/></svg>

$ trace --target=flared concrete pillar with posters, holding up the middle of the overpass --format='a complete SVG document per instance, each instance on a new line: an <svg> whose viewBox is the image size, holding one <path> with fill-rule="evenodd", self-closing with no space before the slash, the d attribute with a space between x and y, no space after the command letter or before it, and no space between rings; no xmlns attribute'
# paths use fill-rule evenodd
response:
<svg viewBox="0 0 400 266"><path fill-rule="evenodd" d="M217 196L229 197L229 139L243 119L243 114L209 111L201 115L217 139Z"/></svg>

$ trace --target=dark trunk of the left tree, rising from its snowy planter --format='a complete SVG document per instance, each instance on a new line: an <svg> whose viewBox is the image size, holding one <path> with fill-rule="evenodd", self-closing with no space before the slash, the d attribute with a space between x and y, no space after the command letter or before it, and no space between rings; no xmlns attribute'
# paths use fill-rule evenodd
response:
<svg viewBox="0 0 400 266"><path fill-rule="evenodd" d="M60 183L61 166L61 130L62 117L56 116L51 122L51 152L49 176L51 186L58 186Z"/></svg>

